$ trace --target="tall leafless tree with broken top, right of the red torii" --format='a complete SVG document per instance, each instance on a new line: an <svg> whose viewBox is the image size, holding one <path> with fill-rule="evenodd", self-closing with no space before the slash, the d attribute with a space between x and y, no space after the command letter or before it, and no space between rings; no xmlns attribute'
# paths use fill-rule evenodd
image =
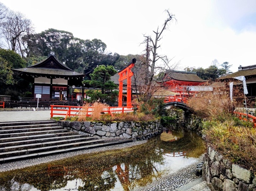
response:
<svg viewBox="0 0 256 191"><path fill-rule="evenodd" d="M158 48L160 48L159 42L162 39L164 31L168 29L171 20L176 20L175 15L171 14L169 10L166 10L166 12L167 19L164 21L162 27L158 27L156 31L153 31L155 38L153 39L151 36L144 35L145 40L142 44L146 45L145 53L141 56L140 62L137 59L137 67L133 69L135 78L133 87L135 87L135 91L138 93L138 98L141 97L142 101L150 99L156 92L162 90L161 83L157 83L157 81L159 82L159 79L164 76L164 71L168 70L168 75L170 75L170 71L178 65L173 64L170 66L171 59L158 53ZM163 65L156 67L158 60L161 60Z"/></svg>

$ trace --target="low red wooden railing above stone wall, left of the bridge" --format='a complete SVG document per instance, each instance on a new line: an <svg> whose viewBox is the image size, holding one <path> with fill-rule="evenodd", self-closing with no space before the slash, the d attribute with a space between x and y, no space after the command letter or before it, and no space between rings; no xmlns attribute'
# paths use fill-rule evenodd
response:
<svg viewBox="0 0 256 191"><path fill-rule="evenodd" d="M65 115L65 118L70 116L79 115L81 112L82 106L63 106L63 105L51 105L51 118L54 115ZM89 117L94 110L94 107L87 107L85 115ZM133 108L131 107L104 107L102 112L108 113L113 116L113 113L124 113L124 112L132 112Z"/></svg>

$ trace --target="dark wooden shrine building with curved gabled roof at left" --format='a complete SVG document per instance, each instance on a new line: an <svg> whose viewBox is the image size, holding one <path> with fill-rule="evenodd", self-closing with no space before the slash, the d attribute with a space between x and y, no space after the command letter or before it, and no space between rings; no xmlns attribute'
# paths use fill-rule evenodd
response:
<svg viewBox="0 0 256 191"><path fill-rule="evenodd" d="M69 87L81 85L85 76L61 63L55 58L54 53L35 65L12 70L18 76L32 82L32 95L35 98L40 94L42 99L69 98Z"/></svg>

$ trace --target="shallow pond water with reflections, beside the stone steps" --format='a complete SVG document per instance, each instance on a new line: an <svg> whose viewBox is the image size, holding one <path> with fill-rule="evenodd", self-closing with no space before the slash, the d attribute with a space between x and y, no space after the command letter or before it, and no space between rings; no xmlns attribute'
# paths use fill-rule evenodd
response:
<svg viewBox="0 0 256 191"><path fill-rule="evenodd" d="M0 191L133 191L196 161L205 151L189 131L161 136L127 149L84 154L0 173Z"/></svg>

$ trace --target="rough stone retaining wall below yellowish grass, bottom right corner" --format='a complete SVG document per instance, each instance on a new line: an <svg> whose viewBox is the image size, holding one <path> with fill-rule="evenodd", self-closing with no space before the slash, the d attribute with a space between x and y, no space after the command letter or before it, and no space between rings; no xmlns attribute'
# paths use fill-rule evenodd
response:
<svg viewBox="0 0 256 191"><path fill-rule="evenodd" d="M231 163L210 146L204 156L203 177L217 191L256 191L251 171Z"/></svg>

